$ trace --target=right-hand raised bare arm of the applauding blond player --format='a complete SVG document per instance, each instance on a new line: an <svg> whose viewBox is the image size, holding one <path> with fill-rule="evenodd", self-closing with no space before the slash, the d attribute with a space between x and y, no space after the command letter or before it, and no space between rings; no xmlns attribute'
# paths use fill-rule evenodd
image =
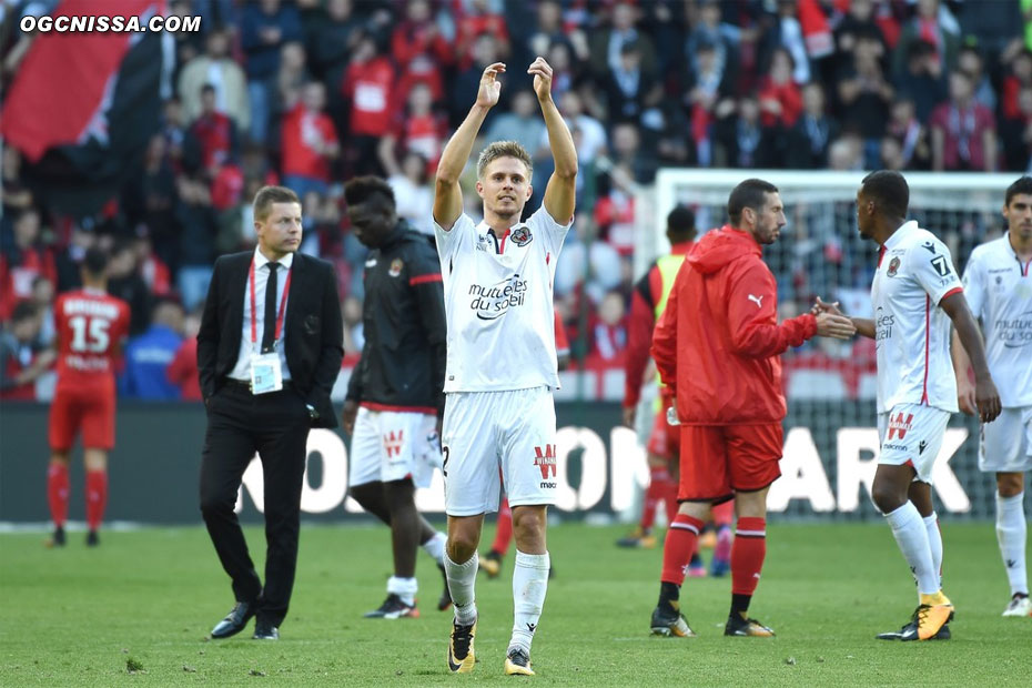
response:
<svg viewBox="0 0 1032 688"><path fill-rule="evenodd" d="M545 188L545 210L559 224L574 219L574 204L577 193L577 149L574 138L563 121L563 115L552 100L552 67L544 58L537 58L527 69L534 74L534 92L542 105L545 128L548 130L548 144L555 160L555 172Z"/></svg>

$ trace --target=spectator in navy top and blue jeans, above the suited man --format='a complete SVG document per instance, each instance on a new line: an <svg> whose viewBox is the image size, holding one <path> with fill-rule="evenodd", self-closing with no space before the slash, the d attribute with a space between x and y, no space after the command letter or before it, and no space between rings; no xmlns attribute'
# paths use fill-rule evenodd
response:
<svg viewBox="0 0 1032 688"><path fill-rule="evenodd" d="M244 4L241 47L247 55L247 98L251 102L251 141L264 143L269 135L269 112L273 80L280 70L284 43L302 40L301 17L293 4L281 0L257 0Z"/></svg>

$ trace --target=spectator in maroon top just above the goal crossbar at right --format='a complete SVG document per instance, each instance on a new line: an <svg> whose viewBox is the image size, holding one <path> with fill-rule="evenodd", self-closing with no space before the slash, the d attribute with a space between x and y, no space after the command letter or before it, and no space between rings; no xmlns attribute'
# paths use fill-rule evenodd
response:
<svg viewBox="0 0 1032 688"><path fill-rule="evenodd" d="M996 124L984 105L974 100L971 79L950 73L950 100L932 112L932 170L941 172L996 169Z"/></svg>

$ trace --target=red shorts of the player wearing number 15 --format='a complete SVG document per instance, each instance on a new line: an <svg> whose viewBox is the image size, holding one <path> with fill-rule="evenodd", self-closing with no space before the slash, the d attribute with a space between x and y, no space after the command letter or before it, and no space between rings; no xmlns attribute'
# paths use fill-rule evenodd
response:
<svg viewBox="0 0 1032 688"><path fill-rule="evenodd" d="M82 431L88 449L114 448L114 378L85 385L58 385L50 404L50 448L67 452Z"/></svg>

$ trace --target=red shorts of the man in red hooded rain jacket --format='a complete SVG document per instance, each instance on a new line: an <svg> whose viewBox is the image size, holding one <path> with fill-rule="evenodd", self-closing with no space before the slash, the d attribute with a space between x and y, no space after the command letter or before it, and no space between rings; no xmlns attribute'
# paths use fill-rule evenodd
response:
<svg viewBox="0 0 1032 688"><path fill-rule="evenodd" d="M785 442L780 423L681 426L679 502L730 499L778 479Z"/></svg>

